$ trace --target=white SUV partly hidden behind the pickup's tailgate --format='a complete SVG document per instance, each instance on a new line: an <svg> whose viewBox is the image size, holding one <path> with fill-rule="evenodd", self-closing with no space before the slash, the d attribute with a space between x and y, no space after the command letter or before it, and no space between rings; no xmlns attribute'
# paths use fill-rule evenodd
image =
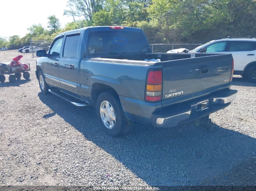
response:
<svg viewBox="0 0 256 191"><path fill-rule="evenodd" d="M189 51L198 53L230 53L234 58L234 74L256 83L256 38L220 38Z"/></svg>

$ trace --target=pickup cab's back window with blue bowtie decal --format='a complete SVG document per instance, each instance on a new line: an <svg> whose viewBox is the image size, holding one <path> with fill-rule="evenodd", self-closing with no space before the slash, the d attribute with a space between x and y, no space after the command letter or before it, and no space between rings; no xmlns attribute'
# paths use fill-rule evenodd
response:
<svg viewBox="0 0 256 191"><path fill-rule="evenodd" d="M148 42L141 32L99 31L89 34L86 55L108 55L149 52Z"/></svg>

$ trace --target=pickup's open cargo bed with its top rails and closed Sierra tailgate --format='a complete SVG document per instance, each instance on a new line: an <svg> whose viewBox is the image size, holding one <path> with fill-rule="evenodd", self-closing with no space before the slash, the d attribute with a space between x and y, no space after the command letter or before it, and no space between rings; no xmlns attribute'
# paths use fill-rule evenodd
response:
<svg viewBox="0 0 256 191"><path fill-rule="evenodd" d="M152 53L89 58L96 62L150 65L163 68L162 101L190 95L210 93L229 83L232 69L231 54ZM148 62L144 59L160 59ZM214 88L213 88L214 87ZM179 92L175 94L175 92ZM167 103L167 102L166 102Z"/></svg>

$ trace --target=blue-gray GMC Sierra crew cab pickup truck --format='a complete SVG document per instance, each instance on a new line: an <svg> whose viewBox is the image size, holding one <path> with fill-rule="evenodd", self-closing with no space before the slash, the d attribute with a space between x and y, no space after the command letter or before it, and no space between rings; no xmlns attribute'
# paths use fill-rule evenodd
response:
<svg viewBox="0 0 256 191"><path fill-rule="evenodd" d="M101 128L113 136L129 132L131 121L155 127L209 122L237 94L230 89L231 54L151 53L138 28L68 31L37 56L42 93L94 105Z"/></svg>

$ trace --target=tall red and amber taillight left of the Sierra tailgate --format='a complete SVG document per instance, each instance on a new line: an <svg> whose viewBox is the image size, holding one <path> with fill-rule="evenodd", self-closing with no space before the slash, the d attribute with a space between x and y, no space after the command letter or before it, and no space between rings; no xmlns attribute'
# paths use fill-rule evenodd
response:
<svg viewBox="0 0 256 191"><path fill-rule="evenodd" d="M163 75L161 70L150 70L148 72L147 84L145 89L145 100L157 102L162 99L162 81Z"/></svg>

